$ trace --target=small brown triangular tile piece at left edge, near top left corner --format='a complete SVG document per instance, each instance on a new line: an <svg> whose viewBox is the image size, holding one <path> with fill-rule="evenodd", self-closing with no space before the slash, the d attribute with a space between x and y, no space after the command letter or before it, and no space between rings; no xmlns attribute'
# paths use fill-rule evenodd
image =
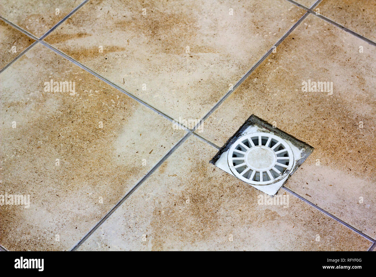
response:
<svg viewBox="0 0 376 277"><path fill-rule="evenodd" d="M0 70L33 42L32 38L0 20Z"/></svg>

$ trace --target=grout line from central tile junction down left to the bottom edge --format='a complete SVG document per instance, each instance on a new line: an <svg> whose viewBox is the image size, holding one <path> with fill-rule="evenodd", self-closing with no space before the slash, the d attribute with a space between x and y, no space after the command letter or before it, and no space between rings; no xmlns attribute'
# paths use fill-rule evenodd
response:
<svg viewBox="0 0 376 277"><path fill-rule="evenodd" d="M82 245L85 240L91 236L94 231L98 229L100 225L102 225L103 222L108 219L108 217L111 216L112 213L114 213L115 210L117 210L118 207L120 207L121 204L151 175L153 172L184 142L186 139L192 134L192 132L188 132L183 138L180 139L177 144L174 145L173 148L126 194L126 196L121 199L114 208L112 208L98 223L94 226L94 228L89 231L77 244L74 246L71 251L75 251L77 248L79 248L80 245Z"/></svg>

